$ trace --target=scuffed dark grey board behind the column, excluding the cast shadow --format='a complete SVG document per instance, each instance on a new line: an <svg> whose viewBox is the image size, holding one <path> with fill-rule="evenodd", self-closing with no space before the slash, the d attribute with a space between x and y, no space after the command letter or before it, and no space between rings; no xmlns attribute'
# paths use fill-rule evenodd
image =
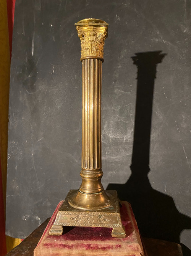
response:
<svg viewBox="0 0 191 256"><path fill-rule="evenodd" d="M172 220L175 212L185 216L176 238L165 236L174 233L176 225L164 228L164 236L161 232L159 238L191 249L190 9L191 2L186 0L146 0L144 4L133 0L16 1L7 235L28 236L52 215L68 190L79 188L81 183L81 47L74 23L92 17L109 23L102 70L102 183L105 188L108 184L119 187L121 199L133 205L124 184L133 172L129 166L136 104L141 97L147 98L147 88L136 98L139 67L131 57L160 50L166 55L153 78L150 172L145 186L150 186L150 194L164 196L161 205L165 198L170 199L175 209ZM143 119L141 126L149 125ZM141 179L140 169L135 183L141 184ZM138 192L136 184L133 187ZM147 201L146 212L152 203ZM162 216L160 211L155 213L153 229ZM138 220L140 215L141 211L136 211ZM138 225L142 228L141 221ZM143 235L152 236L149 226L147 229L141 230Z"/></svg>

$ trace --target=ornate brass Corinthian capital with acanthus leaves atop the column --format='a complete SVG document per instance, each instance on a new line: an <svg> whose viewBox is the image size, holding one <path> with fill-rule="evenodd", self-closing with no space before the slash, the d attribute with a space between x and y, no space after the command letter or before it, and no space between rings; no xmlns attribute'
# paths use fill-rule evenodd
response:
<svg viewBox="0 0 191 256"><path fill-rule="evenodd" d="M81 40L81 61L83 59L104 60L104 41L107 37L108 24L103 20L84 19L75 23Z"/></svg>

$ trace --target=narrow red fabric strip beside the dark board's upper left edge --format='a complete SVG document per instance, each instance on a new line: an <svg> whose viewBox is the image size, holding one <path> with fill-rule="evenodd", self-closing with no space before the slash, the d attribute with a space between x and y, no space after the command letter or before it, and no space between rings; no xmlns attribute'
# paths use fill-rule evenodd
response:
<svg viewBox="0 0 191 256"><path fill-rule="evenodd" d="M15 0L6 0L6 5L7 5L8 28L9 28L10 58L11 58L12 39L13 39L13 23L14 23L14 13L15 13Z"/></svg>

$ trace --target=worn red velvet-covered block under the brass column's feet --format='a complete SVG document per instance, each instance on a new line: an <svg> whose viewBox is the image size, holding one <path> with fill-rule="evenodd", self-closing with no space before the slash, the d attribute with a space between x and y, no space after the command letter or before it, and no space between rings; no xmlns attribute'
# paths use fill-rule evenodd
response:
<svg viewBox="0 0 191 256"><path fill-rule="evenodd" d="M144 254L138 226L131 205L122 201L121 219L126 230L126 238L112 238L112 228L63 227L63 235L49 235L62 206L61 201L49 221L34 256L146 256Z"/></svg>

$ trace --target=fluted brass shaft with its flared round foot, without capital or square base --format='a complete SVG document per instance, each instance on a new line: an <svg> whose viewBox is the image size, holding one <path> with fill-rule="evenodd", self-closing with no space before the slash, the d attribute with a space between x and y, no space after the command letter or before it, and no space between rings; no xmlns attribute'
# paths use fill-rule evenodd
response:
<svg viewBox="0 0 191 256"><path fill-rule="evenodd" d="M106 193L101 178L101 73L100 59L82 61L82 183L68 202L79 209L100 209L113 203Z"/></svg>

